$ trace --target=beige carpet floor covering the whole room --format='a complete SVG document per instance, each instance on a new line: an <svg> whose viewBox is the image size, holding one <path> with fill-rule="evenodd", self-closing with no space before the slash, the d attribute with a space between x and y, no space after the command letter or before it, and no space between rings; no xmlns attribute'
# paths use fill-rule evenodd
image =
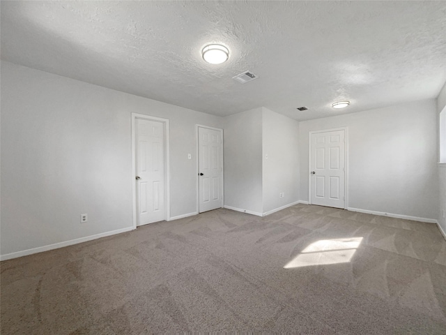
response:
<svg viewBox="0 0 446 335"><path fill-rule="evenodd" d="M436 225L217 209L1 262L1 334L446 334Z"/></svg>

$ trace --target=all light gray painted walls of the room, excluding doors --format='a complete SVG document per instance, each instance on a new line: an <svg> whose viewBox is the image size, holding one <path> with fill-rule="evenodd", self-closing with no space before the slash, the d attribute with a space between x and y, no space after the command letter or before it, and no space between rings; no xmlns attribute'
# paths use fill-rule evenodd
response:
<svg viewBox="0 0 446 335"><path fill-rule="evenodd" d="M263 107L222 119L1 61L1 255L131 227L132 112L170 120L171 216L197 209L196 124L224 128L225 204L257 214L308 200L309 131L348 126L349 206L446 231L445 105L443 88L437 101L299 124Z"/></svg>

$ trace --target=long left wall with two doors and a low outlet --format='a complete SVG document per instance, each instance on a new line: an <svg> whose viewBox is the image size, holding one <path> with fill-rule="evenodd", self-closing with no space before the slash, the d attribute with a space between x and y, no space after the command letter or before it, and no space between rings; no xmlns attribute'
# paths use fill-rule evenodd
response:
<svg viewBox="0 0 446 335"><path fill-rule="evenodd" d="M1 61L1 255L131 227L132 112L170 119L171 216L195 212L195 124L220 117Z"/></svg>

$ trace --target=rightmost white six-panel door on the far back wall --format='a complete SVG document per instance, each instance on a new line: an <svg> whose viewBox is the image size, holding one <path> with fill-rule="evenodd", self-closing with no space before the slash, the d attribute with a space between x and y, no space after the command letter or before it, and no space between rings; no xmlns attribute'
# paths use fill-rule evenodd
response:
<svg viewBox="0 0 446 335"><path fill-rule="evenodd" d="M346 136L344 130L312 133L312 204L345 208Z"/></svg>

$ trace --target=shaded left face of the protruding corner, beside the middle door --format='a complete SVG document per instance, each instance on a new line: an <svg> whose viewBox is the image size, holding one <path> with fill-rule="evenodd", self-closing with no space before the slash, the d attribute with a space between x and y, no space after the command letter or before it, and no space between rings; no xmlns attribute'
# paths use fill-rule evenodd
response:
<svg viewBox="0 0 446 335"><path fill-rule="evenodd" d="M224 204L262 213L262 108L224 118Z"/></svg>

